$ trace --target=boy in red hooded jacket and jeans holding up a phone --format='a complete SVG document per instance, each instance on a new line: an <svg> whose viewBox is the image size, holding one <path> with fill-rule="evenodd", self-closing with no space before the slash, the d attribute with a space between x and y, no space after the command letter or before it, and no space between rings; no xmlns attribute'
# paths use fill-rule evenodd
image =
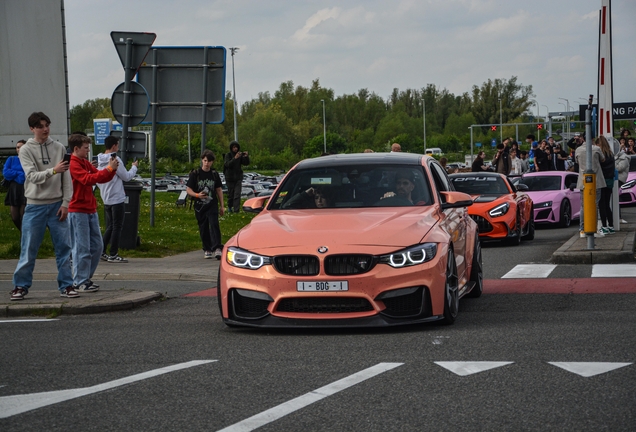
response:
<svg viewBox="0 0 636 432"><path fill-rule="evenodd" d="M68 139L73 151L69 168L73 179L73 197L68 206L73 247L73 286L81 292L98 290L99 287L91 278L104 249L93 186L111 181L119 166L117 159L111 159L106 169L97 170L88 160L90 144L91 139L81 134L73 134Z"/></svg>

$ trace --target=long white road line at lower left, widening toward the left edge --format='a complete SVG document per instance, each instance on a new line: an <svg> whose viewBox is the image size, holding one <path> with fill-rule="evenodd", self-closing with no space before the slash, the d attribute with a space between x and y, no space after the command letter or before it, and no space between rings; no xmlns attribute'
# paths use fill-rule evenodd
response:
<svg viewBox="0 0 636 432"><path fill-rule="evenodd" d="M24 395L14 396L2 396L0 397L0 418L7 418L16 414L22 414L27 411L31 411L37 408L42 408L48 405L53 405L67 400L75 399L81 396L86 396L93 393L98 393L104 390L109 390L115 387L130 384L136 381L145 380L148 378L163 375L169 372L178 371L181 369L187 369L194 366L200 366L206 363L212 363L217 360L193 360L186 363L179 363L172 366L167 366L160 369L154 369L148 372L143 372L137 375L131 375L126 378L121 378L114 381L109 381L103 384L97 384L92 387L84 387L78 389L69 390L57 390L42 393L30 393Z"/></svg>

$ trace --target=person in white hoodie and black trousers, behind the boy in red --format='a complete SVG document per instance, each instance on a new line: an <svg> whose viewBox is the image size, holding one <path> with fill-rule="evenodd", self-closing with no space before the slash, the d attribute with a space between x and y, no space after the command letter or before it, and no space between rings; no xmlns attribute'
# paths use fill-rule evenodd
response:
<svg viewBox="0 0 636 432"><path fill-rule="evenodd" d="M124 182L130 181L137 174L139 162L134 161L129 170L123 161L117 156L119 151L119 139L114 136L107 136L104 139L106 151L97 155L97 169L105 169L111 157L117 158L119 167L117 174L108 183L97 183L102 201L104 201L104 214L106 219L106 231L104 231L104 251L102 252L102 261L112 263L127 263L128 260L119 256L119 237L124 227L125 201L126 192L124 191ZM110 255L106 253L110 244Z"/></svg>

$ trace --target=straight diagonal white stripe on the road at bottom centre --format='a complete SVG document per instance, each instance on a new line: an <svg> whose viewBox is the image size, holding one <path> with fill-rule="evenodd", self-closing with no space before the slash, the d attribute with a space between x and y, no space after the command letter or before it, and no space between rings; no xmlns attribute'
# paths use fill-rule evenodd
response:
<svg viewBox="0 0 636 432"><path fill-rule="evenodd" d="M349 375L341 380L335 381L324 387L320 387L312 392L306 393L295 399L282 403L278 406L263 411L260 414L256 414L241 422L235 423L219 432L248 432L253 431L261 426L276 421L287 414L291 414L294 411L302 409L308 405L318 402L327 396L334 395L342 390L345 390L351 386L354 386L362 381L373 378L376 375L394 369L398 366L402 366L404 363L378 363L368 369L364 369L360 372Z"/></svg>

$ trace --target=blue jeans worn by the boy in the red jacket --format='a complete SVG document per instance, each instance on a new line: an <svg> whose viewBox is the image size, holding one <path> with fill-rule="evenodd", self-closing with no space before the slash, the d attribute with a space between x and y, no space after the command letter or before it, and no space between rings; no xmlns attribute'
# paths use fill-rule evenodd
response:
<svg viewBox="0 0 636 432"><path fill-rule="evenodd" d="M73 238L73 282L76 286L91 280L104 250L97 213L69 213Z"/></svg>

